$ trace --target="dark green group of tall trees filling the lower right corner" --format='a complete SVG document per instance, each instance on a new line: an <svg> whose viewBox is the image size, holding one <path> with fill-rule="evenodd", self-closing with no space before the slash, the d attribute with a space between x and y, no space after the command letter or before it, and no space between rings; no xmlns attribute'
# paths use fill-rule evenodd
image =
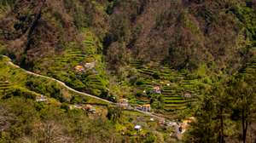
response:
<svg viewBox="0 0 256 143"><path fill-rule="evenodd" d="M246 142L249 123L255 116L254 78L236 75L230 80L215 83L199 101L196 122L192 124L187 140L224 142L229 134L233 141L241 139ZM239 135L241 138L235 137Z"/></svg>

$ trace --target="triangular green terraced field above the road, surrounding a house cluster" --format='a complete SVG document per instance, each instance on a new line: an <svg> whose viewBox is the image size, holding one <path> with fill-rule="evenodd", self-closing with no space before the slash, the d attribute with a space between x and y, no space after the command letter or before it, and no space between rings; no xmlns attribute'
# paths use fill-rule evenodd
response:
<svg viewBox="0 0 256 143"><path fill-rule="evenodd" d="M64 52L58 56L46 57L38 61L33 71L55 77L68 86L80 91L99 95L106 90L101 51L102 45L90 31L84 31L83 46L77 43L69 43ZM95 62L96 66L84 69L85 72L77 72L75 66L84 66L85 63Z"/></svg>

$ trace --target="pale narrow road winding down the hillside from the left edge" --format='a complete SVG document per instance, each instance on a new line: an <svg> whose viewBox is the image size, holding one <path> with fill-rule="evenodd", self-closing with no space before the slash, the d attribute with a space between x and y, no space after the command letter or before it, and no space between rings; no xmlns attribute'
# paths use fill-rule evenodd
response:
<svg viewBox="0 0 256 143"><path fill-rule="evenodd" d="M6 58L9 59L9 57L6 56L6 55L3 55L3 57L6 57ZM8 64L9 66L14 66L15 68L19 68L19 69L21 69L23 72L26 72L27 74L30 74L30 75L32 75L32 76L35 76L35 77L44 77L44 78L47 78L47 79L49 79L49 80L55 81L56 83L60 83L63 87L65 87L65 88L67 88L67 89L73 91L74 93L82 94L82 95L84 95L84 96L88 96L88 97L94 98L94 99L96 99L96 100L102 100L102 101L107 102L107 103L109 103L109 104L117 105L116 103L113 103L112 101L104 100L104 99L102 99L102 98L100 98L100 97L97 97L97 96L95 96L95 95L86 94L86 93L80 92L80 91L78 91L78 90L76 90L76 89L72 89L72 88L70 88L69 86L67 86L65 83L63 83L63 82L61 82L60 80L57 80L57 79L55 79L55 78L53 78L53 77L46 77L46 76L40 75L40 74L38 74L38 73L26 71L25 69L21 68L20 66L15 65L10 59L9 59L9 61L8 61L7 64ZM137 110L135 107L133 107L133 111L141 112L141 113L143 113L143 114L145 114L145 115L148 115L148 116L150 116L150 117L155 117L155 118L157 118L157 119L159 119L159 120L165 120L165 119L166 119L165 117L160 117L160 116L154 115L154 114L151 113L151 112L143 112L143 111Z"/></svg>

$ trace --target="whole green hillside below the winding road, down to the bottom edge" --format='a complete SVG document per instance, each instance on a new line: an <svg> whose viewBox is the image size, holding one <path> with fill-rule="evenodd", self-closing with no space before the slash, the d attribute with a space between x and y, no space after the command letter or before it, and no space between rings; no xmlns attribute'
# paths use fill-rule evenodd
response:
<svg viewBox="0 0 256 143"><path fill-rule="evenodd" d="M0 111L0 142L170 140L164 138L166 127L149 115L79 94L53 78L20 69L2 55ZM137 123L143 124L139 134L133 129Z"/></svg>

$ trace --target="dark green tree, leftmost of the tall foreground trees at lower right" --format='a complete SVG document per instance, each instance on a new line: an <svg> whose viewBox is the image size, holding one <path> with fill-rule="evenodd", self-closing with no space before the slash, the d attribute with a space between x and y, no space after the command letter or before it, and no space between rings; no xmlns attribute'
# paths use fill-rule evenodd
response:
<svg viewBox="0 0 256 143"><path fill-rule="evenodd" d="M193 142L224 143L224 120L230 109L230 96L226 94L224 82L215 83L212 89L199 101L200 106L189 132Z"/></svg>

